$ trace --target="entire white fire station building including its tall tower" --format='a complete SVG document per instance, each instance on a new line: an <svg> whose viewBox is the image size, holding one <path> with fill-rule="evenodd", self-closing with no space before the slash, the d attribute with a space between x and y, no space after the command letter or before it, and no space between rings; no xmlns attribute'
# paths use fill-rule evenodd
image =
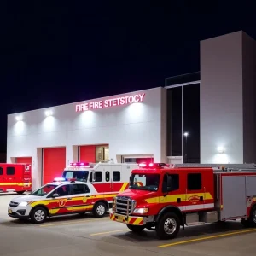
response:
<svg viewBox="0 0 256 256"><path fill-rule="evenodd" d="M7 162L32 163L35 187L73 161L255 162L255 41L234 32L200 48L200 72L165 87L9 114Z"/></svg>

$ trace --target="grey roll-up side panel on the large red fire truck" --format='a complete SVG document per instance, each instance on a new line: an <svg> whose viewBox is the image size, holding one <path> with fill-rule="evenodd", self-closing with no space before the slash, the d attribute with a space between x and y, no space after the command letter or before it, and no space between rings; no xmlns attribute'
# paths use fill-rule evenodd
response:
<svg viewBox="0 0 256 256"><path fill-rule="evenodd" d="M223 210L221 218L247 215L246 177L223 177ZM238 193L236 193L238 191Z"/></svg>

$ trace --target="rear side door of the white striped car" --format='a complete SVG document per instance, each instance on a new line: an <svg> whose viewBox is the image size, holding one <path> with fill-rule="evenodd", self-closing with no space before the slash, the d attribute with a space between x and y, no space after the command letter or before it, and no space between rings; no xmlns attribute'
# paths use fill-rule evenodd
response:
<svg viewBox="0 0 256 256"><path fill-rule="evenodd" d="M73 212L88 212L92 209L91 191L86 184L72 184Z"/></svg>

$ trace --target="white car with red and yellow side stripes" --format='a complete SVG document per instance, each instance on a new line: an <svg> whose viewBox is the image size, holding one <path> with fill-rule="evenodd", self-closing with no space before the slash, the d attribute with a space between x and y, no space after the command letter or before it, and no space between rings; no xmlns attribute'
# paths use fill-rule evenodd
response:
<svg viewBox="0 0 256 256"><path fill-rule="evenodd" d="M52 182L33 191L30 195L15 197L9 202L8 215L12 218L31 219L43 223L46 218L85 212L103 217L108 211L108 201L113 195L97 193L91 183L70 181Z"/></svg>

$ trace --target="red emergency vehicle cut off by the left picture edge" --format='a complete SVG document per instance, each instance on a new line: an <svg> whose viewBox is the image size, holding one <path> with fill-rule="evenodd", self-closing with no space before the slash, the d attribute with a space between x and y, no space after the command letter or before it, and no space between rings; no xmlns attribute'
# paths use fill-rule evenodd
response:
<svg viewBox="0 0 256 256"><path fill-rule="evenodd" d="M0 163L0 193L17 192L23 194L31 189L31 165Z"/></svg>

